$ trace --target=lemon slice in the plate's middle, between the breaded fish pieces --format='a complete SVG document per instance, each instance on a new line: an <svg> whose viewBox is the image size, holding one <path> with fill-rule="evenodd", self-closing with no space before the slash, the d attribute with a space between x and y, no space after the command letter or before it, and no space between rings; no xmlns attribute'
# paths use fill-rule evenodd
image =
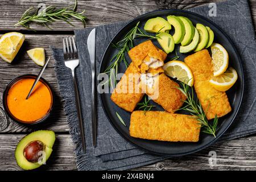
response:
<svg viewBox="0 0 256 182"><path fill-rule="evenodd" d="M182 81L189 86L193 86L193 74L188 65L185 64L183 61L169 61L168 63L163 65L163 69L166 75L172 78L177 78L177 80Z"/></svg>

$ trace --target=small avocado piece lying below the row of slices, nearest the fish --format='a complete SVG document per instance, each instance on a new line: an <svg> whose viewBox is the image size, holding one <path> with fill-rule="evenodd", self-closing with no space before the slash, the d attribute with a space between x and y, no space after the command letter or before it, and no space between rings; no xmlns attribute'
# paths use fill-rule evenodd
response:
<svg viewBox="0 0 256 182"><path fill-rule="evenodd" d="M157 34L158 36L158 43L163 48L164 52L170 53L174 51L174 38L172 38L171 34L168 34L166 32L162 32Z"/></svg>

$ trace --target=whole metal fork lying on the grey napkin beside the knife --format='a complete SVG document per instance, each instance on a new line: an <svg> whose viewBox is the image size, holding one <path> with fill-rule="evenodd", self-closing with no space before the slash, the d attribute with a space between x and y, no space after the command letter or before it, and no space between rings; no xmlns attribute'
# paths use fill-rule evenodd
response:
<svg viewBox="0 0 256 182"><path fill-rule="evenodd" d="M80 135L82 139L82 149L85 152L86 147L85 147L84 125L82 123L81 105L80 105L79 92L77 89L77 82L76 82L76 76L75 76L75 68L79 65L79 57L77 54L76 44L73 36L72 38L71 37L63 38L63 52L64 52L65 66L71 69L72 71L73 84L74 84L75 97L76 97L76 109L77 109L77 114L79 118Z"/></svg>

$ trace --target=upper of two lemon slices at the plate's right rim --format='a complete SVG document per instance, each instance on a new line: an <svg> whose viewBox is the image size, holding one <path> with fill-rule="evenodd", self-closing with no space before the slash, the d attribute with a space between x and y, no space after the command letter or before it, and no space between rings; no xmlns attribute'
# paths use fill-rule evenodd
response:
<svg viewBox="0 0 256 182"><path fill-rule="evenodd" d="M221 44L213 43L210 46L212 51L213 76L219 76L226 71L229 65L229 55Z"/></svg>

